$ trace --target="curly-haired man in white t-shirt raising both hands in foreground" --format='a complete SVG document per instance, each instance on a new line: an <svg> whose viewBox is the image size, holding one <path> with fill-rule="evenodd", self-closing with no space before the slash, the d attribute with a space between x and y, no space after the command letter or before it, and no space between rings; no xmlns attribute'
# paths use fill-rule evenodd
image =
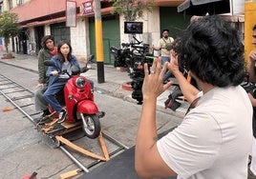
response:
<svg viewBox="0 0 256 179"><path fill-rule="evenodd" d="M196 80L203 95L181 125L157 140L157 97L171 86L162 85L167 68L192 103L199 93L182 76L176 56L150 74L145 65L143 107L136 142L136 170L141 177L182 179L245 179L252 141L252 107L240 84L244 80L243 45L238 33L218 16L205 16L181 35L179 62Z"/></svg>

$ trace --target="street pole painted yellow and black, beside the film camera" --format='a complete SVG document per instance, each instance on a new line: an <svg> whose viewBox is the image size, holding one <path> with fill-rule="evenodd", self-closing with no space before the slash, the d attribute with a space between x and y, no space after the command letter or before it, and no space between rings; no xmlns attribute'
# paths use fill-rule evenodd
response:
<svg viewBox="0 0 256 179"><path fill-rule="evenodd" d="M97 83L105 83L100 0L95 0Z"/></svg>

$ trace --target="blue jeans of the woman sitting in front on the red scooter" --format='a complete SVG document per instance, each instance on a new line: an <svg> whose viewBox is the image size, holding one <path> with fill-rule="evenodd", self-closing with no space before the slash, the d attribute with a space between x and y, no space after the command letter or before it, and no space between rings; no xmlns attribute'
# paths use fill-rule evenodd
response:
<svg viewBox="0 0 256 179"><path fill-rule="evenodd" d="M49 105L56 111L60 112L62 107L55 98L55 94L64 88L67 82L55 82L52 85L48 86L48 89L44 92L44 98Z"/></svg>

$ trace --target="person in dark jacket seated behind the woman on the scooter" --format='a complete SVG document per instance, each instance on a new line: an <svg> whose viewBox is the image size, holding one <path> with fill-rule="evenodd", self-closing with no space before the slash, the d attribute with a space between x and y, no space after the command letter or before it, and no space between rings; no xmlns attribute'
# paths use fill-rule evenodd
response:
<svg viewBox="0 0 256 179"><path fill-rule="evenodd" d="M42 49L38 52L38 73L39 79L34 92L34 103L36 111L43 111L42 118L50 114L48 103L43 97L44 91L47 89L49 77L46 76L48 67L44 65L44 61L51 60L53 55L57 54L57 48L54 47L54 39L52 35L46 35L41 40Z"/></svg>

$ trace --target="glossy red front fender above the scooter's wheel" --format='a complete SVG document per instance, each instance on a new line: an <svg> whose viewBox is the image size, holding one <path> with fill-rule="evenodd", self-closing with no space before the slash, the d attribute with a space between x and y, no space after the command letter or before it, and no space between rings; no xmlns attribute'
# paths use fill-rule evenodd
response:
<svg viewBox="0 0 256 179"><path fill-rule="evenodd" d="M77 105L77 111L86 114L96 114L98 109L94 101L86 100Z"/></svg>

